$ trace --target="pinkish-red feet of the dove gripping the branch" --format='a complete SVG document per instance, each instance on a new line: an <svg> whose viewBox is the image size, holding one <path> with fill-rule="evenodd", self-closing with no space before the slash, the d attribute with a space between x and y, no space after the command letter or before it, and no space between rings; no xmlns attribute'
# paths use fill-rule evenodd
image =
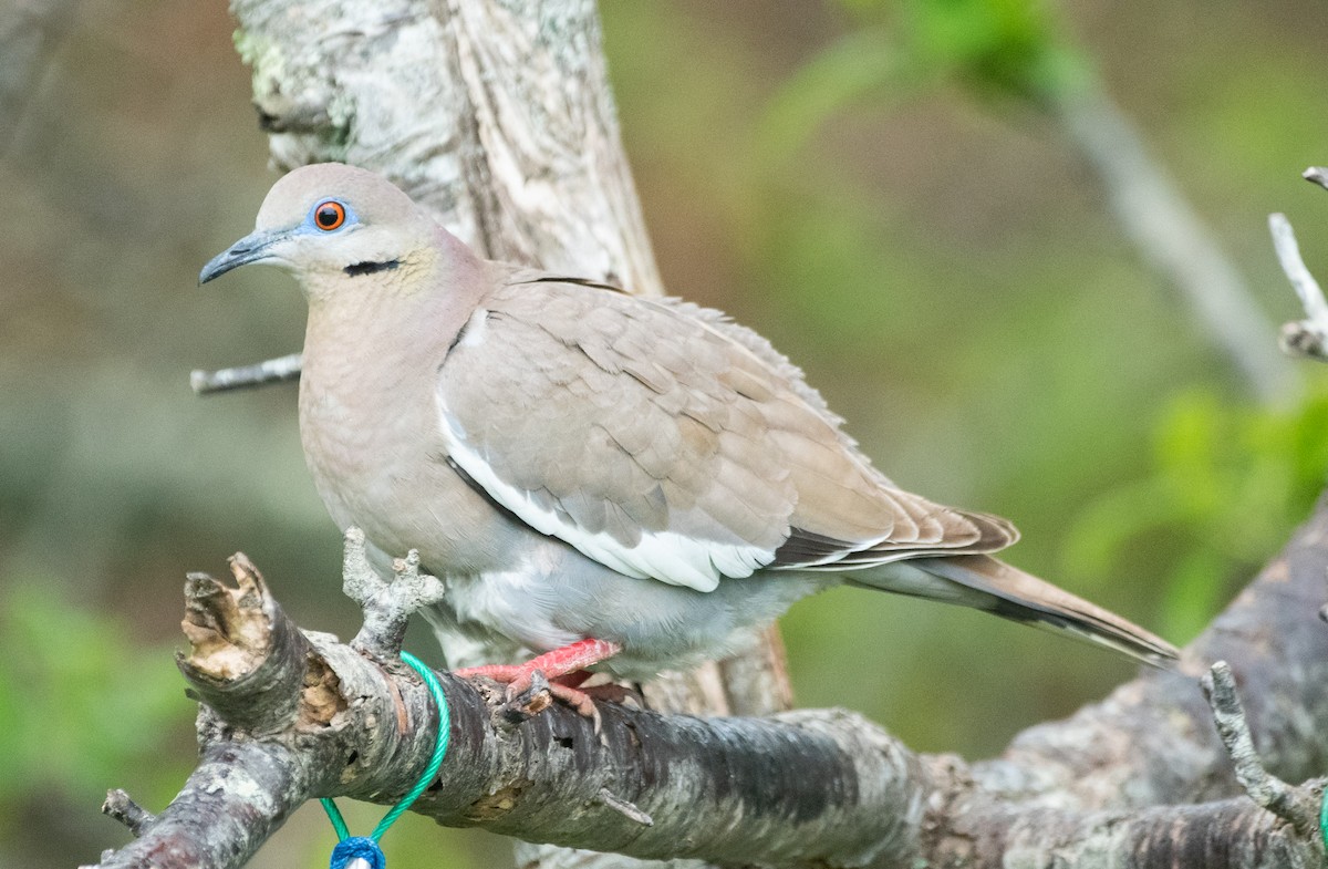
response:
<svg viewBox="0 0 1328 869"><path fill-rule="evenodd" d="M587 667L607 660L623 651L618 643L604 639L586 638L560 648L531 658L523 664L485 664L457 670L462 679L485 676L507 686L507 703L531 715L543 711L548 700L539 703L539 695L552 696L595 722L599 731L599 711L595 700L579 690L582 682L590 678ZM533 691L534 688L534 691ZM533 694L534 696L526 696Z"/></svg>

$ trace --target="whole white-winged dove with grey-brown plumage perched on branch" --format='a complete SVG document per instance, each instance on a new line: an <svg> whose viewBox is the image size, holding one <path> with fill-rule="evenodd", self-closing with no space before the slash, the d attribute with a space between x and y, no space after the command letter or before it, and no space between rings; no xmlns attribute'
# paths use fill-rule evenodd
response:
<svg viewBox="0 0 1328 869"><path fill-rule="evenodd" d="M420 550L448 589L429 613L445 650L537 652L470 671L513 696L535 671L566 688L592 666L691 667L841 583L1177 655L992 558L1008 521L896 488L798 368L717 311L482 260L339 163L278 181L199 279L247 263L308 299L300 436L332 518L384 563Z"/></svg>

